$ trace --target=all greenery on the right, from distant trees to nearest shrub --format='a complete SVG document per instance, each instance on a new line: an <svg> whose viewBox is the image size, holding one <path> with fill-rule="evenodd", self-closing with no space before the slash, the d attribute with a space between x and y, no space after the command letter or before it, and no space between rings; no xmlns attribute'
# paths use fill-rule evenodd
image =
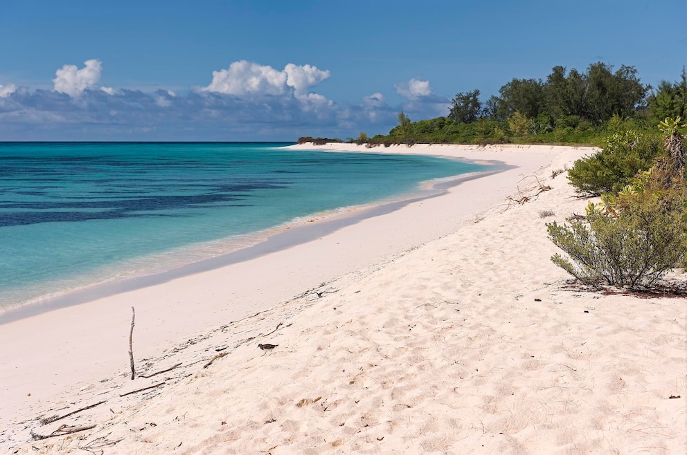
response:
<svg viewBox="0 0 687 455"><path fill-rule="evenodd" d="M512 79L499 95L484 102L480 95L458 93L445 117L413 122L400 112L388 134L360 133L348 142L597 146L568 179L580 197L600 202L570 224L547 224L549 239L566 254L552 261L594 287L652 288L676 267L687 271L687 68L677 82L654 88L632 66L555 66L545 80ZM298 142L330 141L318 140Z"/></svg>

